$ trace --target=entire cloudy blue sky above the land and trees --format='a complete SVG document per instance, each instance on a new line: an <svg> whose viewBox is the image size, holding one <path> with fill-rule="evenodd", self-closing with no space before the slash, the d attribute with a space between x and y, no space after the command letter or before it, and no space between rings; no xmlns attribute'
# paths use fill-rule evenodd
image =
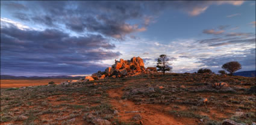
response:
<svg viewBox="0 0 256 125"><path fill-rule="evenodd" d="M140 56L255 70L255 1L1 1L1 75L89 75Z"/></svg>

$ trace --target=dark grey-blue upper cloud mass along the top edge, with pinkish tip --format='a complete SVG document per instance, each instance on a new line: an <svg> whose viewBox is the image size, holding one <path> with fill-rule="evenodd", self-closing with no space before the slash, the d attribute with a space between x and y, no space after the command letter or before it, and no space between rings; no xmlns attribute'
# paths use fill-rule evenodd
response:
<svg viewBox="0 0 256 125"><path fill-rule="evenodd" d="M28 14L29 19L23 14L16 15L18 19L31 20L46 26L63 24L75 32L98 32L119 40L123 40L132 32L145 31L146 26L155 18L149 14L158 16L165 9L174 8L196 16L212 4L243 4L239 1L23 1L23 4L4 1L3 3L3 6L9 10L16 6L23 9L30 8L32 14L23 12ZM131 19L140 21L132 25L128 23Z"/></svg>

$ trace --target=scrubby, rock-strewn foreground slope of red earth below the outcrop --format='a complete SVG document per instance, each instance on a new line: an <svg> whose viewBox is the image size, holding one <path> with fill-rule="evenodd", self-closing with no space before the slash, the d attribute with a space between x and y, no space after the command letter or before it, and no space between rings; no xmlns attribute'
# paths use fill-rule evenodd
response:
<svg viewBox="0 0 256 125"><path fill-rule="evenodd" d="M252 124L254 86L242 76L168 73L4 88L1 124Z"/></svg>

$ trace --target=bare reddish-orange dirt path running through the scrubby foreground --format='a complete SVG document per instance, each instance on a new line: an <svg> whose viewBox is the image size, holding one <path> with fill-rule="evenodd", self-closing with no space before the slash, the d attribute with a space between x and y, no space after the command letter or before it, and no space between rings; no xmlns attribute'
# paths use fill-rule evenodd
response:
<svg viewBox="0 0 256 125"><path fill-rule="evenodd" d="M130 83L131 82L132 81L130 81ZM128 83L126 83L125 86ZM181 122L181 120L176 120L172 116L164 114L159 109L157 110L156 108L158 108L158 106L155 107L154 105L149 104L135 105L129 100L122 100L121 97L123 95L123 88L124 87L107 91L111 97L111 105L113 105L114 108L119 112L118 115L120 116L119 119L121 121L131 121L131 118L133 118L134 115L140 114L142 119L138 122L142 121L143 124L147 125L184 124L184 121Z"/></svg>

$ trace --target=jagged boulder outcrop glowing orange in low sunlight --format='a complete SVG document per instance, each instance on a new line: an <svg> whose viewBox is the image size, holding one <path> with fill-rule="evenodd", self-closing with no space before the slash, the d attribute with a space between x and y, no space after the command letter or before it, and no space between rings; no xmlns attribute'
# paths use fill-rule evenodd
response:
<svg viewBox="0 0 256 125"><path fill-rule="evenodd" d="M115 60L115 63L111 67L107 67L104 72L99 71L98 73L93 73L92 76L86 76L85 80L92 81L96 79L104 79L106 77L121 78L136 76L141 73L146 73L146 70L143 59L138 56L133 57L130 60Z"/></svg>

